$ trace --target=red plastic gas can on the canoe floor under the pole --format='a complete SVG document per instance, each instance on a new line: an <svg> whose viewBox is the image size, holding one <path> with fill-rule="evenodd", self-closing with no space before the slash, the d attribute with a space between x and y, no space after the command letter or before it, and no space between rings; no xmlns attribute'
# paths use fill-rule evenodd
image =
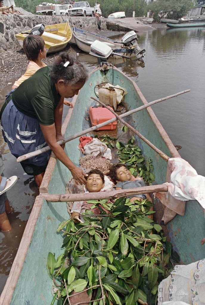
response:
<svg viewBox="0 0 205 305"><path fill-rule="evenodd" d="M89 109L89 115L92 126L95 126L97 124L101 124L105 121L108 121L110 119L113 119L115 116L110 110L103 107L90 107ZM103 127L100 127L96 130L114 130L117 127L117 121L110 123L108 125L105 125Z"/></svg>

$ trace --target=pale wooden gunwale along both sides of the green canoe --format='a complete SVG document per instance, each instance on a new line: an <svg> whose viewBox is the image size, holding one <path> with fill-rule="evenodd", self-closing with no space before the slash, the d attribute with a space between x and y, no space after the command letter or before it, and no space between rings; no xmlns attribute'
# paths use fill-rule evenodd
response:
<svg viewBox="0 0 205 305"><path fill-rule="evenodd" d="M96 67L95 69L93 69L92 72L89 73L89 76L91 74L95 73L98 69L99 69L99 67ZM142 100L142 103L144 105L147 104L148 103L147 100L145 99L144 95L140 91L139 87L135 84L135 82L132 81L126 74L124 74L124 72L120 71L116 67L113 67L113 69L117 70L120 74L123 74L124 77L128 78L129 81L132 82L135 90L137 91L140 99ZM78 99L78 95L75 95L75 97L72 101L74 106L75 106L75 103L76 103L77 99ZM65 134L65 131L66 131L67 125L69 124L69 121L70 121L73 110L74 110L74 108L70 108L68 110L67 116L66 116L66 118L63 122L62 129L61 129L62 135ZM160 133L161 137L163 138L164 142L166 143L167 148L170 151L172 157L180 157L178 151L174 147L173 143L171 142L171 139L169 138L166 131L164 130L164 128L160 124L160 122L157 119L156 115L154 114L153 110L150 107L146 108L146 110L148 111L149 117L153 120L153 123L156 126L157 130L159 131L159 133ZM18 283L18 279L20 277L20 274L21 274L21 271L22 271L22 268L23 268L25 258L27 256L27 251L28 251L29 246L30 246L31 241L32 241L33 233L34 233L34 230L35 230L35 225L36 225L36 222L37 222L38 217L39 217L40 212L41 212L41 208L42 208L42 204L43 204L43 200L44 200L44 197L41 196L41 193L48 193L48 186L49 186L49 183L50 183L50 180L51 180L51 177L52 177L53 170L54 170L55 165L56 165L56 160L57 160L57 158L52 152L51 156L49 158L48 166L45 170L45 175L43 177L43 181L42 181L40 189L39 189L40 194L35 199L34 206L33 206L33 209L31 211L31 215L30 215L30 217L27 221L27 224L26 224L25 230L23 232L23 236L22 236L18 251L16 253L16 257L13 261L13 265L11 267L11 270L10 270L9 276L7 278L5 287L4 287L4 289L2 291L2 294L0 296L0 302L2 302L1 304L9 305L10 301L12 300L13 293L15 291L16 285Z"/></svg>

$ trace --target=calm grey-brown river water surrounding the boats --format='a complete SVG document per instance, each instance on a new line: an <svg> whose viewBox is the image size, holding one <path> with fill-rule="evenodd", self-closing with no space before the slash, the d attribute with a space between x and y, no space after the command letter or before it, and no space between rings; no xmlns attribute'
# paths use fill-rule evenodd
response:
<svg viewBox="0 0 205 305"><path fill-rule="evenodd" d="M204 176L205 27L143 32L138 44L146 50L144 61L116 60L115 66L136 82L148 102L191 89L189 93L152 108L173 144L180 149L182 158ZM97 60L88 54L81 53L78 59L87 63L89 70L97 66ZM10 87L8 85L0 92L1 106ZM63 117L67 109L65 106ZM25 174L20 164L16 163L2 136L0 151L5 161L5 176L18 176L16 185L7 192L12 206L12 213L8 215L12 230L0 232L1 293L38 190L33 177Z"/></svg>

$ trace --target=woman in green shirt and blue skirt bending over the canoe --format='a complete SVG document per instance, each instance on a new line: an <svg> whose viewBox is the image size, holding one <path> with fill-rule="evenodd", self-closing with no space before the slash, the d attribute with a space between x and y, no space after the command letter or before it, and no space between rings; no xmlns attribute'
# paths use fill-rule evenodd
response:
<svg viewBox="0 0 205 305"><path fill-rule="evenodd" d="M55 156L70 170L75 182L86 184L87 176L69 159L57 141L61 134L63 100L78 94L88 78L85 67L66 52L53 66L39 69L13 92L2 107L1 129L11 153L21 155L49 145ZM50 151L21 162L24 171L41 185Z"/></svg>

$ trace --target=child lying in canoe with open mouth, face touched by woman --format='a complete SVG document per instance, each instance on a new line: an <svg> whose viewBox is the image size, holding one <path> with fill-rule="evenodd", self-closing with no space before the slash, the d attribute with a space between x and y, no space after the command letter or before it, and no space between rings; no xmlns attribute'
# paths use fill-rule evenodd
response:
<svg viewBox="0 0 205 305"><path fill-rule="evenodd" d="M88 176L85 177L85 179L87 180L85 188L87 189L87 192L90 193L111 191L113 188L113 183L109 180L108 177L104 176L100 170L94 169L89 171ZM85 210L90 210L92 205L92 203L87 203L86 201L74 202L70 211L71 218L75 218L79 221L79 215L81 213L85 213ZM98 208L95 208L92 211L96 215L100 214L100 210Z"/></svg>

